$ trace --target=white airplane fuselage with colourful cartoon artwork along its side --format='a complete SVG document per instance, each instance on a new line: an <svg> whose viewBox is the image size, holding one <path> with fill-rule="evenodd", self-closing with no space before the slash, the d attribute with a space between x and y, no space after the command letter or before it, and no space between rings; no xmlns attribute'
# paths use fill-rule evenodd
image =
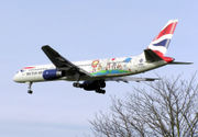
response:
<svg viewBox="0 0 198 137"><path fill-rule="evenodd" d="M102 79L108 77L122 77L136 75L151 69L158 68L166 65L164 60L147 62L144 53L135 57L122 57L122 58L109 58L109 59L96 59L87 61L73 62L79 68L89 72L91 79ZM57 79L51 79L51 77L57 76ZM48 80L68 80L76 81L74 76L61 77L56 67L52 65L29 66L16 72L13 80L16 82L41 82ZM80 80L91 80L90 78L80 78Z"/></svg>

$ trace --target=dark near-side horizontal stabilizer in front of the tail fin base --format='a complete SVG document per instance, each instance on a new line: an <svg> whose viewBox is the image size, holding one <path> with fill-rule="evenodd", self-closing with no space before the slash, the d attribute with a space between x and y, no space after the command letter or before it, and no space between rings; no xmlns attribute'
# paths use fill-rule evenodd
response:
<svg viewBox="0 0 198 137"><path fill-rule="evenodd" d="M156 55L152 49L145 49L144 55L146 58L146 61L148 62L154 62L154 61L160 61L163 60L158 55Z"/></svg>

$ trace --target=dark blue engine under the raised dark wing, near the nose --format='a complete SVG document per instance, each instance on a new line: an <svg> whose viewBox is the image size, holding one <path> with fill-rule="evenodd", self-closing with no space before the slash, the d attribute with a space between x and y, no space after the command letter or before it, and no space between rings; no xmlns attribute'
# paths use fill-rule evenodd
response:
<svg viewBox="0 0 198 137"><path fill-rule="evenodd" d="M43 78L45 80L58 79L62 76L63 76L63 72L57 69L47 69L47 70L43 71Z"/></svg>

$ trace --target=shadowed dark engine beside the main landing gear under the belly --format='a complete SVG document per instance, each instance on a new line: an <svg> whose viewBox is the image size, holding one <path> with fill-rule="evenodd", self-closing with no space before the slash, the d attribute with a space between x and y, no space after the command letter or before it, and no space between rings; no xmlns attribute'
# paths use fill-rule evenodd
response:
<svg viewBox="0 0 198 137"><path fill-rule="evenodd" d="M84 90L91 91L106 87L103 80L85 81L82 84Z"/></svg>

